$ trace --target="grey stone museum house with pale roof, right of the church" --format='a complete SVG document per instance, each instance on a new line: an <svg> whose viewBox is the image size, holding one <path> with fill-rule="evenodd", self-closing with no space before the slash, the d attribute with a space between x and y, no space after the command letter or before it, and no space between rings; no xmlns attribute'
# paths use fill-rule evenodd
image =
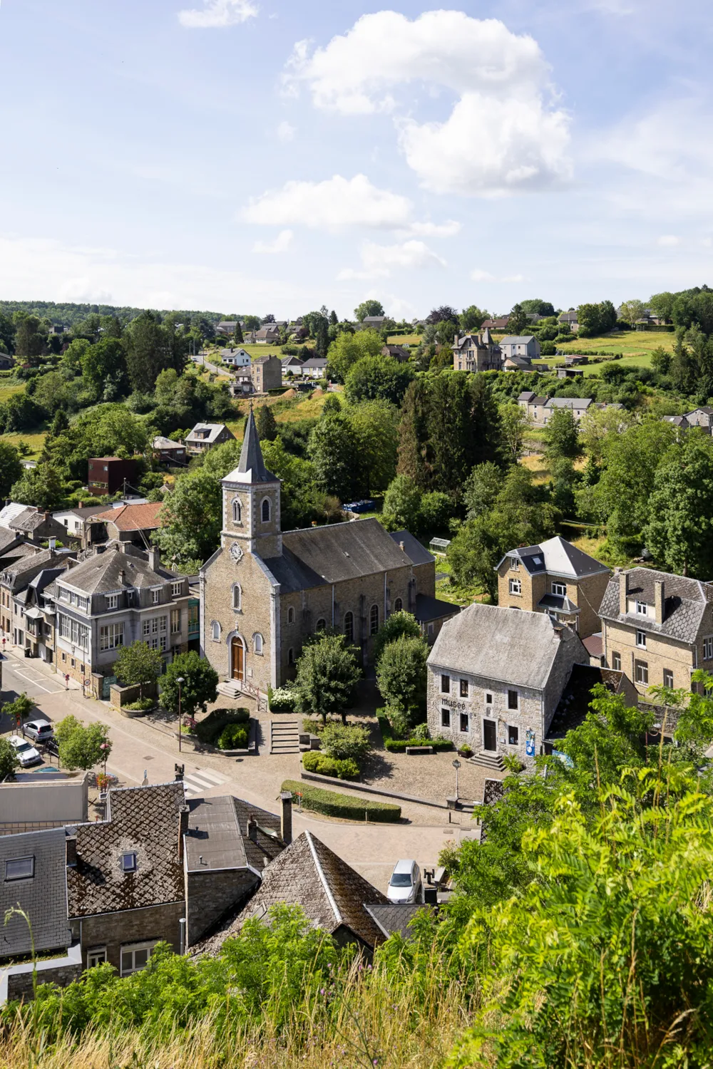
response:
<svg viewBox="0 0 713 1069"><path fill-rule="evenodd" d="M428 662L433 735L467 744L482 763L532 764L575 664L579 637L543 613L475 603L444 624Z"/></svg>

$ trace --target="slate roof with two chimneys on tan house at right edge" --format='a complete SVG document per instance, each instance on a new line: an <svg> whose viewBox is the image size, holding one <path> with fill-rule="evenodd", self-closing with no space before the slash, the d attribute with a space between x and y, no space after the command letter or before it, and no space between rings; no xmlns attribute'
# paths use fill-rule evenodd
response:
<svg viewBox="0 0 713 1069"><path fill-rule="evenodd" d="M654 604L654 583L664 584L664 622L656 623L651 617L619 613L619 584L624 574L629 576L629 598ZM636 625L638 631L664 635L688 645L696 641L703 623L708 605L713 602L713 585L699 579L687 579L683 575L669 575L649 568L632 568L629 572L613 575L609 579L600 616L607 620L619 620ZM709 628L709 630L713 630Z"/></svg>

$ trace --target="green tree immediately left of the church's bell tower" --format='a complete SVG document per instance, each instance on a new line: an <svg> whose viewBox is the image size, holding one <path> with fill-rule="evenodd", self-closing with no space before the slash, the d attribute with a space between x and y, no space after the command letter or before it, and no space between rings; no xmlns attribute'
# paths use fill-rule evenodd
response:
<svg viewBox="0 0 713 1069"><path fill-rule="evenodd" d="M220 542L222 497L211 471L196 468L177 476L161 509L161 526L153 540L173 567L201 563Z"/></svg>

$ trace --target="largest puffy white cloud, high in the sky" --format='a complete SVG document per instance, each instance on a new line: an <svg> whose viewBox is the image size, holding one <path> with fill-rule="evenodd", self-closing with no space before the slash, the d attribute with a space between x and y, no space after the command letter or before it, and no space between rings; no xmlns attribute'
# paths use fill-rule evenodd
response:
<svg viewBox="0 0 713 1069"><path fill-rule="evenodd" d="M456 95L448 119L399 114L394 94L414 82ZM324 48L299 42L283 83L292 94L306 83L323 110L393 112L409 167L436 192L493 196L571 175L569 117L553 99L548 65L532 37L498 19L458 11L414 20L391 11L363 15ZM413 97L409 90L409 107Z"/></svg>

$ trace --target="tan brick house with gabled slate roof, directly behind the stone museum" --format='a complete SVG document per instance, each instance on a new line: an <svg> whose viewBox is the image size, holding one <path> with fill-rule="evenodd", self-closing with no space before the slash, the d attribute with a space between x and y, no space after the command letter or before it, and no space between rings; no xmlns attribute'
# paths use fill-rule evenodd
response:
<svg viewBox="0 0 713 1069"><path fill-rule="evenodd" d="M587 638L600 630L599 610L611 572L559 534L541 545L510 549L495 569L498 605L547 613Z"/></svg>

